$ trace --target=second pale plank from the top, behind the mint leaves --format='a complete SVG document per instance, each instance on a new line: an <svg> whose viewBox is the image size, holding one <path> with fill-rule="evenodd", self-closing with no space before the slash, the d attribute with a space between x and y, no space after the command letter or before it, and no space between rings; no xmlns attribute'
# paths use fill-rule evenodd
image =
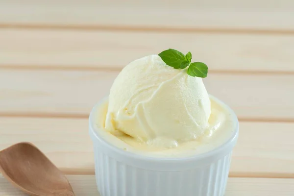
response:
<svg viewBox="0 0 294 196"><path fill-rule="evenodd" d="M190 50L211 71L294 74L294 35L8 28L0 29L0 43L0 67L121 70L174 48Z"/></svg>

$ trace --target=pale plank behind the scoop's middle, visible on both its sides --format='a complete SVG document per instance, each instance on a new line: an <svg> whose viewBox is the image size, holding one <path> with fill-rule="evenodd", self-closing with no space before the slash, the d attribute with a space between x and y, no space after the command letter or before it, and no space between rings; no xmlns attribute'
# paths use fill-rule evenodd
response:
<svg viewBox="0 0 294 196"><path fill-rule="evenodd" d="M0 115L88 117L118 72L0 70ZM242 120L294 120L293 75L210 73L208 92Z"/></svg>

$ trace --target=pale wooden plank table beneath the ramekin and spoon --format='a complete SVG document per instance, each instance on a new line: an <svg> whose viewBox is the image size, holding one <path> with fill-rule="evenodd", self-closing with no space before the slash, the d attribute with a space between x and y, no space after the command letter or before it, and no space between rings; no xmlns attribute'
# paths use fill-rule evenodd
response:
<svg viewBox="0 0 294 196"><path fill-rule="evenodd" d="M98 196L91 108L127 63L174 48L240 120L226 196L293 196L294 1L178 2L0 0L0 149L32 142Z"/></svg>

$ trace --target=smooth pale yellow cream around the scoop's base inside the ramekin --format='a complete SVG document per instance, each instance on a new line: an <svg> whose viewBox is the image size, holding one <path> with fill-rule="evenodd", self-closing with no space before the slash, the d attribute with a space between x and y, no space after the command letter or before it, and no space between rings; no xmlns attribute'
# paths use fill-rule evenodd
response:
<svg viewBox="0 0 294 196"><path fill-rule="evenodd" d="M211 116L204 134L194 140L179 142L177 147L164 147L140 141L121 131L110 133L105 129L105 118L108 109L108 99L99 105L94 118L97 119L97 130L104 140L124 150L160 157L185 157L211 151L224 144L237 128L237 119L231 110L218 99L210 97ZM156 141L154 141L156 143Z"/></svg>

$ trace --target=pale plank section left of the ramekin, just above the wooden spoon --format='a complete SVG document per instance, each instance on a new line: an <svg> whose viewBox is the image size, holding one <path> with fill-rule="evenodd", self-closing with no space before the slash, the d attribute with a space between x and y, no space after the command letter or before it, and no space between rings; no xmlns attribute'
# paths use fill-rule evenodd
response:
<svg viewBox="0 0 294 196"><path fill-rule="evenodd" d="M25 141L39 147L63 172L94 173L87 119L0 118L0 150Z"/></svg>

